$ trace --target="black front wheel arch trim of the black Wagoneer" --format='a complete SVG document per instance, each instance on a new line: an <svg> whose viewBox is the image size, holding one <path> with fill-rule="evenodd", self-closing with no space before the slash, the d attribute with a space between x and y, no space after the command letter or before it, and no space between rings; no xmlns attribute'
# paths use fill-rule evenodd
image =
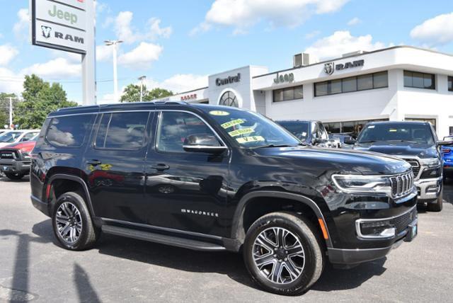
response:
<svg viewBox="0 0 453 303"><path fill-rule="evenodd" d="M236 239L239 241L241 244L243 243L243 240L245 239L246 235L246 230L244 227L244 215L246 212L246 209L248 205L253 202L253 200L256 200L257 198L273 198L273 199L284 199L284 200L289 200L292 202L296 202L299 205L302 205L304 207L308 207L309 210L311 210L314 215L316 216L317 219L322 220L323 225L326 230L326 234L328 235L328 239L324 239L326 241L326 246L328 248L333 247L332 241L331 241L331 235L329 234L328 228L327 228L327 223L326 219L321 212L321 209L319 208L319 205L314 202L314 200L311 200L310 198L306 198L304 195L298 195L294 193L282 193L279 191L269 191L269 190L260 190L260 191L254 191L252 193L247 193L246 195L243 195L243 198L239 201L239 204L236 207L236 211L234 212L234 219L233 219L233 224L232 224L232 229L231 229L231 238ZM320 224L317 223L317 226L321 230L322 227L319 226Z"/></svg>

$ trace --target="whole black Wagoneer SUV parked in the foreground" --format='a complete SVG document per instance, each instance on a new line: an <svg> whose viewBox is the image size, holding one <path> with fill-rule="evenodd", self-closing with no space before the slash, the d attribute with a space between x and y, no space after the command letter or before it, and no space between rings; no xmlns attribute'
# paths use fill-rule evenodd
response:
<svg viewBox="0 0 453 303"><path fill-rule="evenodd" d="M265 290L296 295L326 261L384 257L417 233L406 161L303 146L238 108L129 103L51 113L32 154L33 205L59 243L101 231L200 251L242 251Z"/></svg>

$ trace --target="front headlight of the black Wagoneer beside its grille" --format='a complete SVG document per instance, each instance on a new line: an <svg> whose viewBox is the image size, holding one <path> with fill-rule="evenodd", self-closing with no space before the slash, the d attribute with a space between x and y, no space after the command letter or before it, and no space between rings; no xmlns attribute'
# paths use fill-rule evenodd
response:
<svg viewBox="0 0 453 303"><path fill-rule="evenodd" d="M391 194L388 177L361 175L333 175L333 183L345 193L385 193Z"/></svg>

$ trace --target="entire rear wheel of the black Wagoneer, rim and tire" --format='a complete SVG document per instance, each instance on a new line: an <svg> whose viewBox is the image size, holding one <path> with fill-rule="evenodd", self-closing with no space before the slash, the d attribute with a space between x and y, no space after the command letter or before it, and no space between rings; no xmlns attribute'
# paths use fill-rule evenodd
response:
<svg viewBox="0 0 453 303"><path fill-rule="evenodd" d="M80 193L59 196L53 208L52 227L59 243L71 251L91 248L99 235Z"/></svg>

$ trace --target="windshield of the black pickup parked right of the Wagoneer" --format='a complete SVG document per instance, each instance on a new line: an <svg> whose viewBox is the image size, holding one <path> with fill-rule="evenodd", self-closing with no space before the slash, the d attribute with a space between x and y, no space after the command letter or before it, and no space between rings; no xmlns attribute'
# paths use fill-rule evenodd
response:
<svg viewBox="0 0 453 303"><path fill-rule="evenodd" d="M379 141L434 144L430 127L425 124L392 123L368 125L362 130L357 139L358 143Z"/></svg>

